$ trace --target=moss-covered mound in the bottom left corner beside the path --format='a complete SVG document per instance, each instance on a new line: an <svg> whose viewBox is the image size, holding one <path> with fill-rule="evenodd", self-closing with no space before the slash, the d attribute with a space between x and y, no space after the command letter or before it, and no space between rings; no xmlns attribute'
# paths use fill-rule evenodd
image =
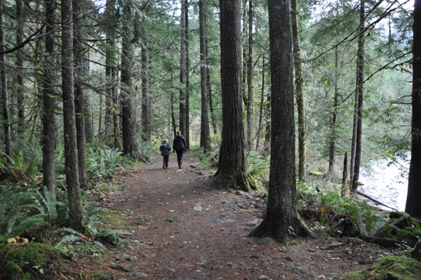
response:
<svg viewBox="0 0 421 280"><path fill-rule="evenodd" d="M65 279L67 258L50 244L0 244L0 279Z"/></svg>

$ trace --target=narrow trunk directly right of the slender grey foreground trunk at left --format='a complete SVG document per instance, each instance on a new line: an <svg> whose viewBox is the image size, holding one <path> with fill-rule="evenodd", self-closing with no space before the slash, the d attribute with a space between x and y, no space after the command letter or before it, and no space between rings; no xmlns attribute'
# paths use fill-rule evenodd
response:
<svg viewBox="0 0 421 280"><path fill-rule="evenodd" d="M77 159L79 168L79 185L81 188L88 187L88 175L86 169L86 135L85 135L85 93L83 88L83 77L88 75L84 62L85 48L83 48L82 27L85 22L80 18L82 14L82 0L73 0L73 18L74 18L74 111L76 114L76 142Z"/></svg>

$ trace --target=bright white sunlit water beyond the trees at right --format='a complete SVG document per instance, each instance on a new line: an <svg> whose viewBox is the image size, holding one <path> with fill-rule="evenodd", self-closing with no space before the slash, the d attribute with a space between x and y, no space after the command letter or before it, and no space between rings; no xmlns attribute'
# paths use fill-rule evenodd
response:
<svg viewBox="0 0 421 280"><path fill-rule="evenodd" d="M408 157L410 159L410 157ZM392 162L388 159L373 159L368 168L361 167L359 181L360 192L367 194L389 206L386 210L405 211L406 194L408 193L409 161L398 159ZM369 201L373 204L373 201Z"/></svg>

